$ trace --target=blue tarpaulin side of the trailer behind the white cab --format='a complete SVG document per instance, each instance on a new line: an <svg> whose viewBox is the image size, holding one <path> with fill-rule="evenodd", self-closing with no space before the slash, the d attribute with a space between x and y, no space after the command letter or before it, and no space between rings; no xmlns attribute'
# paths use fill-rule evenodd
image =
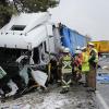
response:
<svg viewBox="0 0 109 109"><path fill-rule="evenodd" d="M70 29L66 26L62 26L61 35L62 46L70 48L71 53L75 52L76 47L83 47L87 44L87 37L78 34L76 31Z"/></svg>

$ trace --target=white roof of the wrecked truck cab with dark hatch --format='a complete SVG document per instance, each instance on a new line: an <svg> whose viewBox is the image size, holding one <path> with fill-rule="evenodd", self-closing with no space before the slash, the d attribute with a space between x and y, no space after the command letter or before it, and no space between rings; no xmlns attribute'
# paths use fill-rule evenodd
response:
<svg viewBox="0 0 109 109"><path fill-rule="evenodd" d="M13 15L10 22L0 29L0 47L33 49L52 34L48 24L50 14L21 13Z"/></svg>

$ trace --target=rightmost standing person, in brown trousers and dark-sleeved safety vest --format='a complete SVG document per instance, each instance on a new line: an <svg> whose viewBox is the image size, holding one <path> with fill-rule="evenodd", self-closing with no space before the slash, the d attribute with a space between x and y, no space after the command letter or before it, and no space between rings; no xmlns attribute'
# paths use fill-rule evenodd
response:
<svg viewBox="0 0 109 109"><path fill-rule="evenodd" d="M89 73L88 73L88 86L92 90L96 90L96 70L98 63L98 51L95 49L95 45L93 43L88 43L87 45L89 49Z"/></svg>

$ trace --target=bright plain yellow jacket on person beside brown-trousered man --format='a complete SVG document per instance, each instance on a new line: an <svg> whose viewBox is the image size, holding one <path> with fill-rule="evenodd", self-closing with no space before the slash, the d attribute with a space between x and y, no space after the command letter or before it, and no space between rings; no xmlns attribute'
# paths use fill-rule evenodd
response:
<svg viewBox="0 0 109 109"><path fill-rule="evenodd" d="M87 51L83 52L82 56L83 56L83 59L82 59L82 72L85 73L85 72L89 71L89 62L88 62L89 56L88 56Z"/></svg>

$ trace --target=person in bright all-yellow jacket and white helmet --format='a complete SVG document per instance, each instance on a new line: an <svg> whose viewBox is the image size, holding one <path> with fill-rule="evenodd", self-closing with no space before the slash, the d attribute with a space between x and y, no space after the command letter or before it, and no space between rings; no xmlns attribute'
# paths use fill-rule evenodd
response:
<svg viewBox="0 0 109 109"><path fill-rule="evenodd" d="M83 47L82 48L82 73L85 74L85 87L88 86L88 81L87 81L87 73L89 73L89 55L87 52L87 48Z"/></svg>

